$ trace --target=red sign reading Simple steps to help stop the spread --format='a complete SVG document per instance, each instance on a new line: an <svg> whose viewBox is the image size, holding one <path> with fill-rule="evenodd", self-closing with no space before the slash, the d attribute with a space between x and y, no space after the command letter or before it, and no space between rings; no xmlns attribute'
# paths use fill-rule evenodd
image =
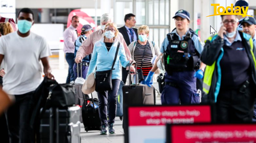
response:
<svg viewBox="0 0 256 143"><path fill-rule="evenodd" d="M129 107L129 126L210 123L210 105Z"/></svg>

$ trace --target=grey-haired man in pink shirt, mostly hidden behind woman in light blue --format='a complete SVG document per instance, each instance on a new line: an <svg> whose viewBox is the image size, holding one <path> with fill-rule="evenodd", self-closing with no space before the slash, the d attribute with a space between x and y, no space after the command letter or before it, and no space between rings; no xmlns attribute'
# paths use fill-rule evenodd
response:
<svg viewBox="0 0 256 143"><path fill-rule="evenodd" d="M101 16L101 29L92 33L86 39L86 41L84 41L82 43L82 45L80 46L79 50L76 53L76 59L75 59L76 63L82 62L82 59L86 55L89 55L93 52L93 47L94 47L95 42L99 41L102 38L105 25L108 24L109 22L112 22L112 18L110 17L110 15L108 13L103 14ZM121 33L118 33L118 37L115 39L115 41L116 40L123 44L124 49L125 49L126 58L127 58L127 60L131 60L131 52L130 52L129 48L127 47ZM131 71L135 72L135 68L133 66L131 67Z"/></svg>

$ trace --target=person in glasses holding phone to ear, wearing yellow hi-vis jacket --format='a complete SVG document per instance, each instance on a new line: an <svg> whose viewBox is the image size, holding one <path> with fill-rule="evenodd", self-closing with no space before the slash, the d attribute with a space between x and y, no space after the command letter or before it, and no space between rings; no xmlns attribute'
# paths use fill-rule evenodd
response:
<svg viewBox="0 0 256 143"><path fill-rule="evenodd" d="M203 91L217 107L217 122L252 121L255 92L255 49L250 35L237 30L235 15L222 15L222 26L206 44Z"/></svg>

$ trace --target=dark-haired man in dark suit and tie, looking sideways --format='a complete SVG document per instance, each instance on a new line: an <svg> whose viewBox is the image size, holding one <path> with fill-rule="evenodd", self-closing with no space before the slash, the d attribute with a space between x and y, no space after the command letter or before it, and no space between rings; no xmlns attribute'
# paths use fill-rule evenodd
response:
<svg viewBox="0 0 256 143"><path fill-rule="evenodd" d="M136 24L135 15L132 13L126 14L124 16L125 25L118 28L118 31L123 35L123 39L127 46L129 46L133 41L138 40L138 30L133 28ZM126 68L122 68L122 80L125 84L127 78Z"/></svg>

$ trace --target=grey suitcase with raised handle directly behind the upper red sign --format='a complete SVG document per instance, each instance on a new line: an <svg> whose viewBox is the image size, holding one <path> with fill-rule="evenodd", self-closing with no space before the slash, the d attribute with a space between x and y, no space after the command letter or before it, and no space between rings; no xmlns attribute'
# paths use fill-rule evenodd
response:
<svg viewBox="0 0 256 143"><path fill-rule="evenodd" d="M135 63L135 69L137 65ZM145 84L137 83L137 74L135 74L136 82L131 84L131 70L129 67L129 85L123 85L123 104L124 105L155 105L155 89Z"/></svg>

